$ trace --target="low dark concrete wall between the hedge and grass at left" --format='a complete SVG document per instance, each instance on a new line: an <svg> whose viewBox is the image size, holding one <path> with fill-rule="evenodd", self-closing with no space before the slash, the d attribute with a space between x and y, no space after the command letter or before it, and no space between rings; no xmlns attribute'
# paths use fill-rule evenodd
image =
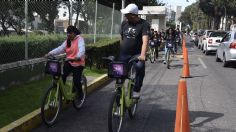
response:
<svg viewBox="0 0 236 132"><path fill-rule="evenodd" d="M19 61L5 66L0 65L0 92L11 85L44 77L44 67L45 62L41 59Z"/></svg>

